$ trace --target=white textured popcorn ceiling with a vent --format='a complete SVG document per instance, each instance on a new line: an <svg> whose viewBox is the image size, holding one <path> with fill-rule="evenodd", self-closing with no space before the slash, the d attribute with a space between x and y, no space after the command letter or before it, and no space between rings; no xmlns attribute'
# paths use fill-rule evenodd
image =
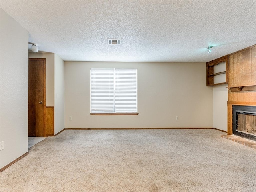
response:
<svg viewBox="0 0 256 192"><path fill-rule="evenodd" d="M0 6L40 51L66 61L208 62L256 44L256 0L0 0ZM108 38L122 43L108 45Z"/></svg>

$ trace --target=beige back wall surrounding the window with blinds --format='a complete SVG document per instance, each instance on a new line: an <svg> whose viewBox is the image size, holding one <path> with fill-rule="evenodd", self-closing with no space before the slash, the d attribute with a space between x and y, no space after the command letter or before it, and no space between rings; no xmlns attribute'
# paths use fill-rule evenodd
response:
<svg viewBox="0 0 256 192"><path fill-rule="evenodd" d="M138 116L91 116L90 68L137 68ZM205 63L64 62L65 128L212 127L205 74Z"/></svg>

